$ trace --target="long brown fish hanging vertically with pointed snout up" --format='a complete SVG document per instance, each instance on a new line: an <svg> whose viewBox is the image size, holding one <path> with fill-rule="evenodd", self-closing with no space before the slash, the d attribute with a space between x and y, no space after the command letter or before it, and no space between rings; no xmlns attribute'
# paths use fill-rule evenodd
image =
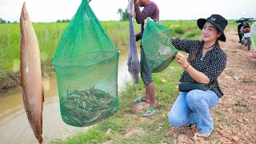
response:
<svg viewBox="0 0 256 144"><path fill-rule="evenodd" d="M23 3L20 18L21 27L21 85L22 97L26 116L35 137L42 143L42 102L44 102L42 88L42 70L38 38Z"/></svg>

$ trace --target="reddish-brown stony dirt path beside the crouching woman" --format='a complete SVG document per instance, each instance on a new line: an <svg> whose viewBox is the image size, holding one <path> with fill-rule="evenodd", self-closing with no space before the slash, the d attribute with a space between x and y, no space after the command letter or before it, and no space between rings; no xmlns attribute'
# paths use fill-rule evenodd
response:
<svg viewBox="0 0 256 144"><path fill-rule="evenodd" d="M220 44L227 66L218 78L225 95L211 110L214 134L206 141L194 137L196 129L171 126L166 137L175 143L256 143L256 59L252 50L240 49L236 32L226 33L226 38Z"/></svg>

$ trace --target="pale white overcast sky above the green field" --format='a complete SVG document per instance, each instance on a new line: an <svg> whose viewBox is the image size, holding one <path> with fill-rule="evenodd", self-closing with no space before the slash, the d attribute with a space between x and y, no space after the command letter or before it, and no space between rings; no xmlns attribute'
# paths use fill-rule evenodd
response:
<svg viewBox="0 0 256 144"><path fill-rule="evenodd" d="M160 20L194 20L221 14L226 19L256 17L256 0L151 0L158 4ZM0 18L19 21L22 4L32 22L71 19L82 0L0 0ZM125 10L128 0L91 0L90 7L100 21L118 21L118 9ZM243 15L246 14L246 15Z"/></svg>

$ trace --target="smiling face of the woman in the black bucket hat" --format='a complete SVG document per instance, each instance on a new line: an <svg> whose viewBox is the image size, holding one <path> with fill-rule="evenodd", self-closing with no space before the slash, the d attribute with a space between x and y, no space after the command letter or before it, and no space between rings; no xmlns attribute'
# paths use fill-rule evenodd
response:
<svg viewBox="0 0 256 144"><path fill-rule="evenodd" d="M206 21L202 27L202 40L204 42L215 42L221 35L222 33L210 22Z"/></svg>

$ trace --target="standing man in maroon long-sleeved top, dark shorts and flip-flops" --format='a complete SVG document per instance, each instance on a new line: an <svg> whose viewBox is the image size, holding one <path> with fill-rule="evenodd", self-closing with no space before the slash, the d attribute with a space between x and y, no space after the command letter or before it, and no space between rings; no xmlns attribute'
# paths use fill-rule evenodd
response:
<svg viewBox="0 0 256 144"><path fill-rule="evenodd" d="M136 22L141 24L141 32L136 34L136 41L142 39L143 31L144 31L144 20L148 17L154 19L154 21L159 22L159 9L158 6L151 2L150 0L134 0L134 10L136 13ZM141 11L139 7L144 7ZM134 103L138 102L150 102L150 106L148 110L146 110L145 114L142 117L150 117L154 115L154 107L155 107L155 90L154 90L154 82L152 79L152 72L148 63L146 62L146 56L142 47L141 47L141 77L145 85L146 94L140 98L136 98Z"/></svg>

